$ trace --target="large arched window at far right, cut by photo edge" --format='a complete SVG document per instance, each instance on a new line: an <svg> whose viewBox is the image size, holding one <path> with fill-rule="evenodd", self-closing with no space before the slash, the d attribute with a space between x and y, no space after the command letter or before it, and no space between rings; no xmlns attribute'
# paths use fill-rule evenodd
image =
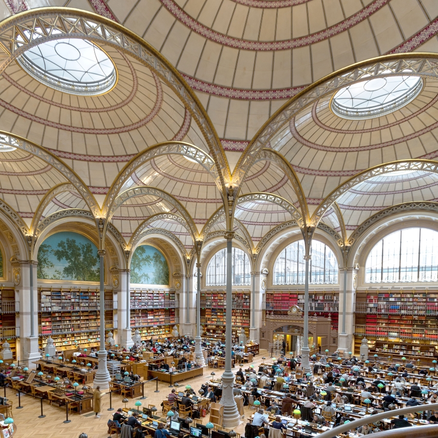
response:
<svg viewBox="0 0 438 438"><path fill-rule="evenodd" d="M406 228L383 237L366 259L366 283L437 281L438 232Z"/></svg>

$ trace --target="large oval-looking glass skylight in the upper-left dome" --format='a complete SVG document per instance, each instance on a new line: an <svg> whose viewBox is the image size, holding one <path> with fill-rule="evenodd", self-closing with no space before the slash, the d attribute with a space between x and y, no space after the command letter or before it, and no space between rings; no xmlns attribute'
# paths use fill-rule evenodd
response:
<svg viewBox="0 0 438 438"><path fill-rule="evenodd" d="M117 80L110 57L85 39L48 41L27 50L17 60L38 81L69 94L102 94L111 90Z"/></svg>

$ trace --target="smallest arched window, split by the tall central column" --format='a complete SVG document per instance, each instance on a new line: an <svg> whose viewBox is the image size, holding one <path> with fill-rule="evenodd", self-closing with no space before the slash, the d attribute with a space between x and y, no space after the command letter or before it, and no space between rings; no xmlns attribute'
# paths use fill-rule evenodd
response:
<svg viewBox="0 0 438 438"><path fill-rule="evenodd" d="M248 256L239 248L233 248L231 253L233 266L231 268L233 286L249 286L251 284L251 266ZM207 286L225 286L227 283L227 250L218 251L207 266ZM196 287L196 270L195 270Z"/></svg>

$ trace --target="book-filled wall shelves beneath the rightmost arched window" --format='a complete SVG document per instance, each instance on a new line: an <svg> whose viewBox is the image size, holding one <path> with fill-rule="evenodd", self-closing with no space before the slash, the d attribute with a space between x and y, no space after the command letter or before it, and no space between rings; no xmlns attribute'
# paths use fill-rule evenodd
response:
<svg viewBox="0 0 438 438"><path fill-rule="evenodd" d="M361 338L379 356L432 361L438 357L438 290L388 288L357 292L355 353ZM362 328L358 328L362 327Z"/></svg>

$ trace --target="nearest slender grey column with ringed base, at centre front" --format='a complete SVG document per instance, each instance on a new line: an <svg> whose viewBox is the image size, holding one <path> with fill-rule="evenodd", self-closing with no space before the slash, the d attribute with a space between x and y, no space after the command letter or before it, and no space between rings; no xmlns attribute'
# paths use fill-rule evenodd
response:
<svg viewBox="0 0 438 438"><path fill-rule="evenodd" d="M234 374L231 371L231 347L232 341L232 312L233 312L233 295L232 295L232 250L233 250L234 233L227 233L227 310L226 310L226 329L225 329L225 371L222 374L222 398L220 404L223 404L223 425L231 428L240 423L240 415L237 410L237 404L234 400Z"/></svg>

